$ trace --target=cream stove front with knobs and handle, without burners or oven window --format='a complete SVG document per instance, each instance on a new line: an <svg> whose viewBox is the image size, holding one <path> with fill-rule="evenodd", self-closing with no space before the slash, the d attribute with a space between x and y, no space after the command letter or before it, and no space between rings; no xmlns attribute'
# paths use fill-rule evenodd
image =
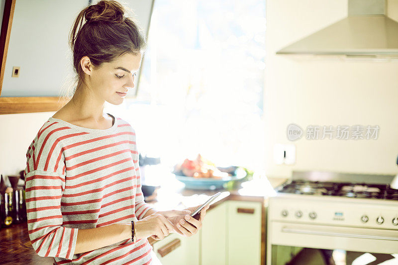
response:
<svg viewBox="0 0 398 265"><path fill-rule="evenodd" d="M267 219L269 265L276 246L398 253L398 201L277 193Z"/></svg>

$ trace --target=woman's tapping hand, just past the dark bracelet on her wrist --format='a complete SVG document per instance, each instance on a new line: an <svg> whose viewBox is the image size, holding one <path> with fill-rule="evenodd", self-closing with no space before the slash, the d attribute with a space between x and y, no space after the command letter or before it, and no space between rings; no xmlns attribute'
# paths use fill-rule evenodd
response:
<svg viewBox="0 0 398 265"><path fill-rule="evenodd" d="M137 239L153 236L152 238L161 240L167 237L170 232L174 230L172 222L166 219L162 214L158 213L153 213L136 221L134 226L137 231Z"/></svg>

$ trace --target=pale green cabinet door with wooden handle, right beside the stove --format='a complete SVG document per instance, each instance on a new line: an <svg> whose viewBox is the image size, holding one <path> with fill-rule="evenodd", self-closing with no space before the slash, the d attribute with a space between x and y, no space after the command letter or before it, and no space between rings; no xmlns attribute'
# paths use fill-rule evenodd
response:
<svg viewBox="0 0 398 265"><path fill-rule="evenodd" d="M227 201L227 265L261 264L261 202Z"/></svg>

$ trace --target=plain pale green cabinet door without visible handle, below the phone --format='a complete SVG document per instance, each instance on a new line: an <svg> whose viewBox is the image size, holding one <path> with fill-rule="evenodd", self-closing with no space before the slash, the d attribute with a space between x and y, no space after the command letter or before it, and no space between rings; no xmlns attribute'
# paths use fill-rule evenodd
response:
<svg viewBox="0 0 398 265"><path fill-rule="evenodd" d="M225 265L226 255L226 210L222 202L206 212L201 232L201 265Z"/></svg>

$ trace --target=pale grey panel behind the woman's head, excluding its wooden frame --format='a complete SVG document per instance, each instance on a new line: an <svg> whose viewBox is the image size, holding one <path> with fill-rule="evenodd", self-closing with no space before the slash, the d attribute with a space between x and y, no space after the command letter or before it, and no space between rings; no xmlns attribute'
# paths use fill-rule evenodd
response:
<svg viewBox="0 0 398 265"><path fill-rule="evenodd" d="M58 96L58 88L72 82L73 56L68 46L68 35L77 15L86 8L88 2L15 2L1 96ZM126 2L127 7L134 12L139 26L146 32L152 0ZM20 67L18 78L11 75L14 66Z"/></svg>

